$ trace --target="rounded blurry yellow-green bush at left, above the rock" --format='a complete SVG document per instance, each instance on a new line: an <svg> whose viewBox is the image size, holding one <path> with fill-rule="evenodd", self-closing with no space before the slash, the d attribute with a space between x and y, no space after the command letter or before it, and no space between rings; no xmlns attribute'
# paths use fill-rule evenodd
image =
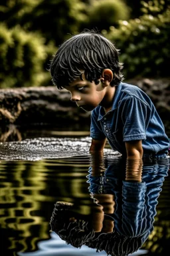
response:
<svg viewBox="0 0 170 256"><path fill-rule="evenodd" d="M38 33L28 33L19 25L7 29L0 23L0 52L1 88L39 86L50 81L44 62L54 47L44 45Z"/></svg>

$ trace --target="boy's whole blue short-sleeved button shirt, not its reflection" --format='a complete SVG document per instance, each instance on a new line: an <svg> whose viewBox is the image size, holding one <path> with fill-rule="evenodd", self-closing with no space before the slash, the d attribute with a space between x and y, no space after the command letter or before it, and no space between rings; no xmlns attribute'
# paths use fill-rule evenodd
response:
<svg viewBox="0 0 170 256"><path fill-rule="evenodd" d="M98 106L91 113L90 136L108 139L112 149L126 154L125 141L142 140L143 155L165 157L169 138L148 95L135 85L116 86L112 109Z"/></svg>

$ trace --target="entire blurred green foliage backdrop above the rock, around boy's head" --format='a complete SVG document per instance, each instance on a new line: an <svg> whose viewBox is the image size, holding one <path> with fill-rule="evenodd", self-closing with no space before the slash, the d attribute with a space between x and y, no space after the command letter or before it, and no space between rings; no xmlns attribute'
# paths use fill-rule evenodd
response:
<svg viewBox="0 0 170 256"><path fill-rule="evenodd" d="M116 43L125 77L167 76L169 6L169 0L1 0L0 87L52 85L46 70L52 54L82 29Z"/></svg>

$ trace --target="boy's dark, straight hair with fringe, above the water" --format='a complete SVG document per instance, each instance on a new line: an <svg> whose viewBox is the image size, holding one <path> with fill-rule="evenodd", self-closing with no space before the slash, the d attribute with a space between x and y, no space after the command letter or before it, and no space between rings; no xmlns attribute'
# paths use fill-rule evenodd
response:
<svg viewBox="0 0 170 256"><path fill-rule="evenodd" d="M63 85L68 86L74 79L82 79L84 73L86 79L98 84L98 79L104 69L111 69L114 79L110 85L118 85L124 75L119 62L119 50L115 45L100 33L95 31L83 31L64 41L58 48L50 63L52 83L58 89Z"/></svg>

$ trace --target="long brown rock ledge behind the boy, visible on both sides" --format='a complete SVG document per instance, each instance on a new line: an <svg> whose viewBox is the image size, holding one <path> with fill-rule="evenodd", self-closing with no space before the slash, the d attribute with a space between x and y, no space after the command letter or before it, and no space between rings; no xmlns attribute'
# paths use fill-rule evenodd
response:
<svg viewBox="0 0 170 256"><path fill-rule="evenodd" d="M145 78L125 82L137 85L149 95L170 137L170 79ZM84 131L84 128L90 125L90 112L76 107L70 101L68 91L58 91L54 86L0 89L0 124L1 133L5 132L5 137L11 134L11 131L19 137L14 128L16 125L25 125L27 129L32 125L36 129L37 125L50 125L64 127L65 131ZM8 125L10 129L6 129Z"/></svg>

